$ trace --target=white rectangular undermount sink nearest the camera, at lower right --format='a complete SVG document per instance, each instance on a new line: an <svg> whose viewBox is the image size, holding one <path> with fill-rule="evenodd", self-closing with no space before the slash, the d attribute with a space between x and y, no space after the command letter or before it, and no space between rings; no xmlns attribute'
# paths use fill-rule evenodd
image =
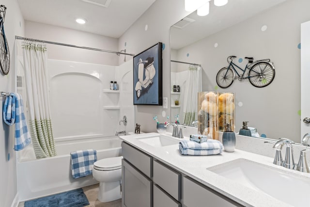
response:
<svg viewBox="0 0 310 207"><path fill-rule="evenodd" d="M309 207L310 178L248 159L207 168L218 175L296 207Z"/></svg>

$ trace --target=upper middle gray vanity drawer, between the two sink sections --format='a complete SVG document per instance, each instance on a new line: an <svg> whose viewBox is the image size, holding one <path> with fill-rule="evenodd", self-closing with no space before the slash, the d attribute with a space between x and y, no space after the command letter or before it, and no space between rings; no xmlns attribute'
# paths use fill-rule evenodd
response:
<svg viewBox="0 0 310 207"><path fill-rule="evenodd" d="M155 160L153 162L153 181L174 199L181 200L181 174L179 172Z"/></svg>

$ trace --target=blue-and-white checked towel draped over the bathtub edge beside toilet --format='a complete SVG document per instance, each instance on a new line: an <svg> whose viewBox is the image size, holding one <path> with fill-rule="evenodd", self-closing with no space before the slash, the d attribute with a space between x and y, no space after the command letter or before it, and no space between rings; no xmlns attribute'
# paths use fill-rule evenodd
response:
<svg viewBox="0 0 310 207"><path fill-rule="evenodd" d="M93 163L97 160L94 149L71 152L71 174L73 178L85 177L93 173Z"/></svg>

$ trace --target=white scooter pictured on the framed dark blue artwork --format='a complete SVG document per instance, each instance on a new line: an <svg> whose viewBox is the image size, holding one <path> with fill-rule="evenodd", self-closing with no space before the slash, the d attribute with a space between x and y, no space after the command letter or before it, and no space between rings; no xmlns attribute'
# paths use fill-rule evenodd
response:
<svg viewBox="0 0 310 207"><path fill-rule="evenodd" d="M138 67L138 82L136 83L136 93L137 97L141 96L141 91L143 88L147 88L150 84L153 83L153 78L155 76L155 67L153 65L154 57L148 57L145 61L139 59ZM143 80L143 72L145 68L145 79Z"/></svg>

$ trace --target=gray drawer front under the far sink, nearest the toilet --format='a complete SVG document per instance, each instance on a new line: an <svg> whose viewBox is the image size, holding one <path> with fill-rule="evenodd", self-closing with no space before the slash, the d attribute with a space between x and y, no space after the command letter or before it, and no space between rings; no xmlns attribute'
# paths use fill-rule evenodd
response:
<svg viewBox="0 0 310 207"><path fill-rule="evenodd" d="M152 157L124 142L122 142L122 155L124 159L128 160L142 173L148 177L152 177Z"/></svg>

